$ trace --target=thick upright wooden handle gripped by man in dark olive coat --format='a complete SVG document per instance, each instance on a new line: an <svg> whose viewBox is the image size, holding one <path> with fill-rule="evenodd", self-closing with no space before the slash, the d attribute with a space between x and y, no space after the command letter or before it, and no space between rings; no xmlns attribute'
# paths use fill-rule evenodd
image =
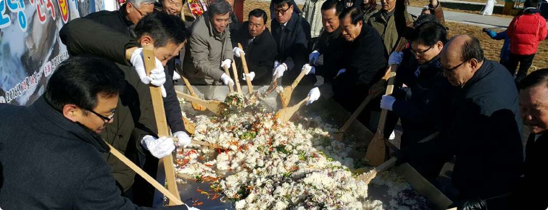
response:
<svg viewBox="0 0 548 210"><path fill-rule="evenodd" d="M152 46L147 46L142 50L143 58L145 59L146 74L150 75L152 69L156 68L156 59L154 57ZM171 81L168 81L171 82ZM156 118L156 126L158 127L158 136L169 136L169 129L167 126L167 120L165 119L164 102L162 97L162 91L159 87L150 85L150 94L152 98L152 107L154 109L154 115ZM173 156L169 154L163 159L165 170L165 181L167 182L167 188L177 200L169 199L169 205L181 205L181 197L179 190L177 189L177 183L175 182L175 170L173 168ZM164 195L166 195L164 193ZM168 196L169 197L169 196Z"/></svg>

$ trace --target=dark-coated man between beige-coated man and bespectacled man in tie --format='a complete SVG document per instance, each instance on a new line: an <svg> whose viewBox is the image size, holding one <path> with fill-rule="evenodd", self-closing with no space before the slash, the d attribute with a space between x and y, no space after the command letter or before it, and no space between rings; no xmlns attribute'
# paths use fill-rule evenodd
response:
<svg viewBox="0 0 548 210"><path fill-rule="evenodd" d="M249 68L247 75L254 85L269 85L272 81L272 63L276 56L276 41L266 28L266 12L262 9L254 9L249 13L249 21L243 22L235 42L241 43L242 48L234 48L234 55L240 57L240 51L246 51L246 61ZM236 60L238 75L242 75L242 64Z"/></svg>

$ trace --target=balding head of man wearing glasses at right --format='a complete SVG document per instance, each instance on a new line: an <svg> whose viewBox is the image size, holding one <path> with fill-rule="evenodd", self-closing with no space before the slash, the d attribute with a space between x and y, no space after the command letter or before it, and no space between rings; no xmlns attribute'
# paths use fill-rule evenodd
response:
<svg viewBox="0 0 548 210"><path fill-rule="evenodd" d="M443 75L454 86L470 80L484 60L479 40L468 35L453 37L439 55Z"/></svg>

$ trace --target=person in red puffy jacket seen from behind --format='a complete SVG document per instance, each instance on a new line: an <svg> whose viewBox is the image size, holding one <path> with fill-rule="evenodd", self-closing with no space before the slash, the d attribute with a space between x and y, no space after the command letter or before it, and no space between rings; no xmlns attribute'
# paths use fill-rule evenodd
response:
<svg viewBox="0 0 548 210"><path fill-rule="evenodd" d="M546 38L546 19L540 16L539 0L526 0L523 14L513 18L506 30L510 37L510 57L506 68L512 75L516 73L516 84L527 75L527 70L533 63L536 48L541 40Z"/></svg>

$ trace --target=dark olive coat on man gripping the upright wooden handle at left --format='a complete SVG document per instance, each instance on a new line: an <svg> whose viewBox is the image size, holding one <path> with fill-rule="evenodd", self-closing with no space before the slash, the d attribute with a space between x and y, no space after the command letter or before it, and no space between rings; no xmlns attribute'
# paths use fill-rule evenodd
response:
<svg viewBox="0 0 548 210"><path fill-rule="evenodd" d="M156 136L157 127L149 85L141 83L135 68L125 59L125 49L138 46L128 36L88 19L75 19L59 31L61 42L67 46L68 54L93 54L104 57L122 69L126 88L120 94L118 107L112 124L105 127L101 136L130 160L138 161L138 152L143 153L140 140L146 135ZM135 172L110 153L105 154L113 167L113 175L127 190L133 184Z"/></svg>

